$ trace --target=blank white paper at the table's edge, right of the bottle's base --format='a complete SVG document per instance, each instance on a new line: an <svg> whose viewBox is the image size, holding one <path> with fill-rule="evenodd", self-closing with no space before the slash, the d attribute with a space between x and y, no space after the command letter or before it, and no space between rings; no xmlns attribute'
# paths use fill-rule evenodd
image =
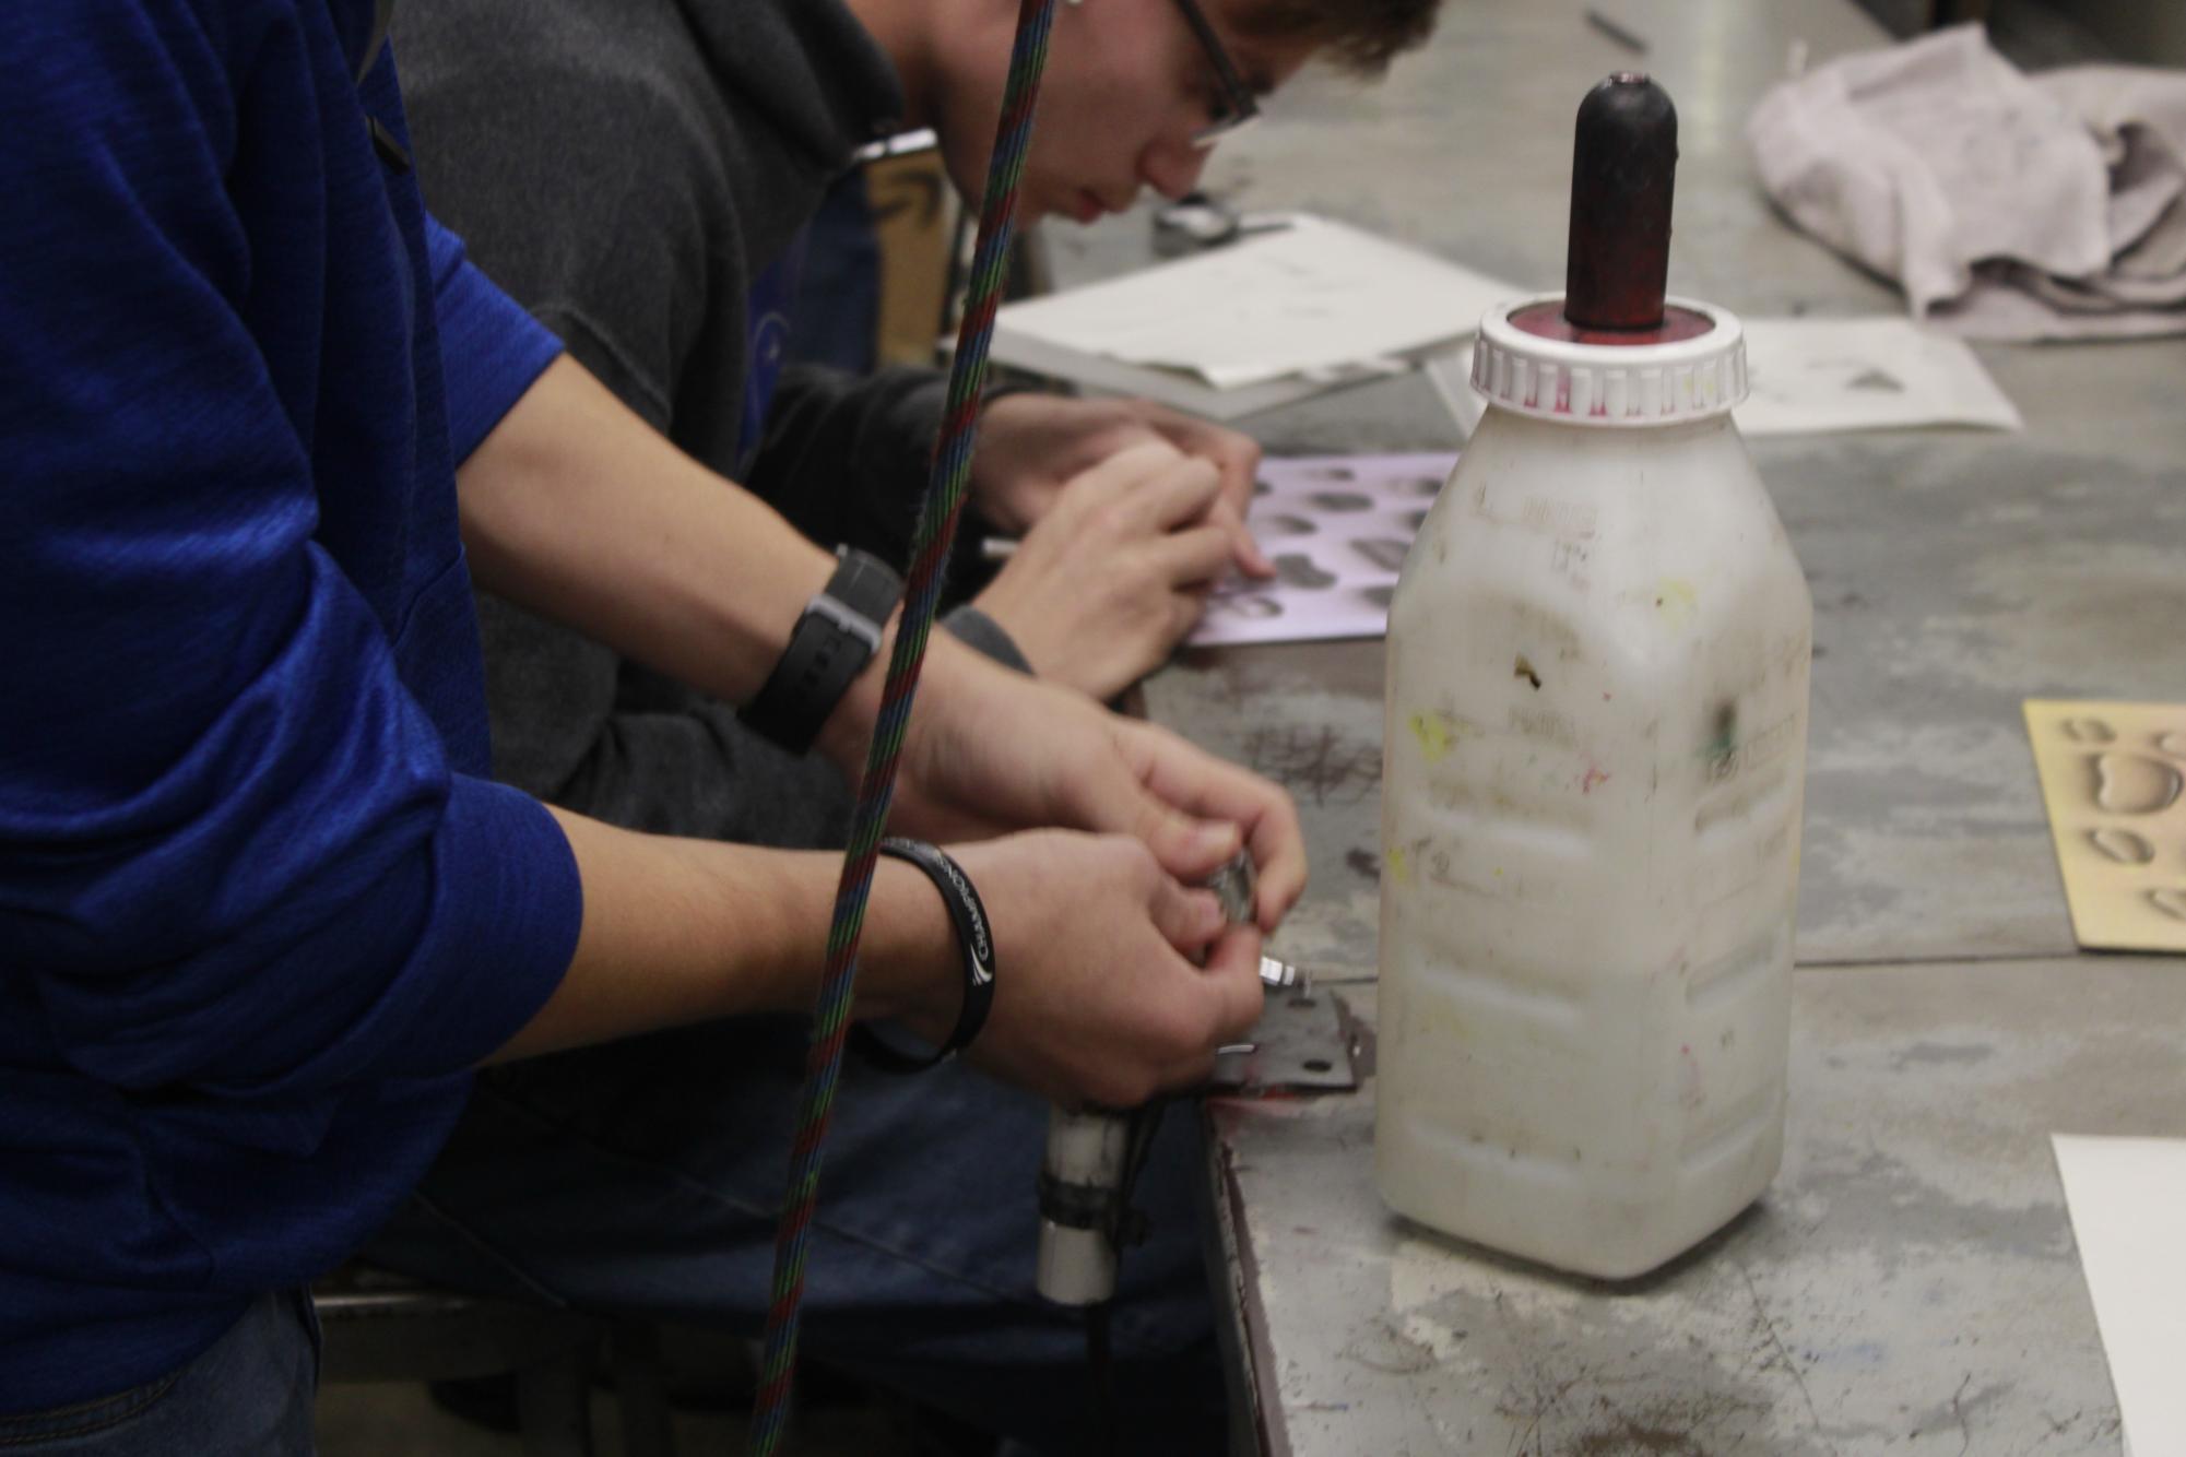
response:
<svg viewBox="0 0 2186 1457"><path fill-rule="evenodd" d="M2186 1453L2186 1138L2057 1134L2125 1450Z"/></svg>

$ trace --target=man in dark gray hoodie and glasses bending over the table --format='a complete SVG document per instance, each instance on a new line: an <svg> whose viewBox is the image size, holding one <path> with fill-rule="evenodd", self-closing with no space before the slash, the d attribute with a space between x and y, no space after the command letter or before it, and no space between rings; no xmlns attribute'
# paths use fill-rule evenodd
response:
<svg viewBox="0 0 2186 1457"><path fill-rule="evenodd" d="M804 535L903 559L940 417L922 369L780 367L796 236L853 153L933 127L977 197L1012 0L496 0L398 15L415 159L472 258L638 415ZM1191 188L1207 142L1309 57L1373 72L1436 0L1100 0L1056 24L1025 218ZM1135 402L1003 393L975 531L1023 535L951 629L1095 695L1159 664L1204 583L1266 572L1257 448ZM844 786L697 697L481 601L494 765L632 828L839 843ZM442 1280L756 1330L802 1038L741 1020L492 1073L376 1256ZM1117 1389L1135 1453L1222 1442L1172 1116L1124 1260ZM1082 1411L1080 1328L1032 1293L1045 1107L962 1066L848 1068L807 1350L1049 1450Z"/></svg>

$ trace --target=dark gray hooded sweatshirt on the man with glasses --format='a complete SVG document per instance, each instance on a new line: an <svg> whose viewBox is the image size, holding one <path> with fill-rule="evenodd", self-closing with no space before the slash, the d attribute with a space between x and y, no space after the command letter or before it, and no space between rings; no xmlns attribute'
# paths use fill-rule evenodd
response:
<svg viewBox="0 0 2186 1457"><path fill-rule="evenodd" d="M393 46L433 212L625 404L737 474L752 282L903 116L863 26L842 0L420 0ZM791 367L737 478L901 568L940 408L925 369ZM839 837L833 767L483 592L479 616L498 778L640 830ZM984 614L949 627L1023 668Z"/></svg>

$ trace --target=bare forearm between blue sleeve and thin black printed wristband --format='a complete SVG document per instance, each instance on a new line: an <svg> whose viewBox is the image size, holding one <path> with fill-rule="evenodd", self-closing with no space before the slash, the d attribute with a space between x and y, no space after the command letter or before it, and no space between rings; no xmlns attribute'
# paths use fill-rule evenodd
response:
<svg viewBox="0 0 2186 1457"><path fill-rule="evenodd" d="M634 834L553 810L584 880L562 985L490 1062L754 1011L809 1009L842 856ZM936 1024L955 941L925 878L881 861L859 948L859 1018Z"/></svg>

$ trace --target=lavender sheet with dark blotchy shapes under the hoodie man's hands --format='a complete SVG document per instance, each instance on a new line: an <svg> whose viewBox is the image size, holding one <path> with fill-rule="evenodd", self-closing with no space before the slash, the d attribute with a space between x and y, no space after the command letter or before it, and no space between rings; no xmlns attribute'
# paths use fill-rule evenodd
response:
<svg viewBox="0 0 2186 1457"><path fill-rule="evenodd" d="M1261 461L1246 509L1270 583L1231 579L1207 599L1194 647L1379 638L1419 522L1454 454L1294 457Z"/></svg>

